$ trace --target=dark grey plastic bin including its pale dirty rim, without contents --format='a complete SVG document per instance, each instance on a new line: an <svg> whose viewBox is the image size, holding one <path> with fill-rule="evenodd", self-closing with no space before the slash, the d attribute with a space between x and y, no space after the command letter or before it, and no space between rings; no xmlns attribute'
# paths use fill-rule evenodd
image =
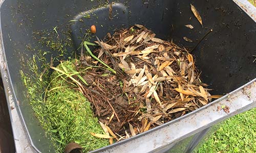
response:
<svg viewBox="0 0 256 153"><path fill-rule="evenodd" d="M111 2L115 2L112 20L109 19ZM200 12L203 27L191 12L190 4ZM48 61L51 56L59 54L38 43L35 38L38 31L55 32L55 29L60 38L67 37L66 32L71 32L74 46L69 46L65 55L69 57L74 54L92 24L96 25L100 38L118 28L143 24L157 37L172 39L188 48L194 48L208 31L213 30L196 46L193 54L196 65L202 71L201 78L214 89L211 93L225 93L226 96L155 129L95 152L191 152L211 131L211 126L256 107L256 62L253 63L256 23L231 0L120 0L109 3L96 0L6 0L0 12L0 60L7 100L15 104L26 138L35 152L54 150L25 97L26 88L20 70L29 72L27 61L39 54L40 50L51 52L45 56ZM84 17L88 14L90 18ZM186 28L185 24L192 24L194 29ZM194 42L186 42L183 37ZM43 71L40 62L38 68ZM222 105L230 107L229 114L216 111ZM12 128L15 131L17 127L13 124Z"/></svg>

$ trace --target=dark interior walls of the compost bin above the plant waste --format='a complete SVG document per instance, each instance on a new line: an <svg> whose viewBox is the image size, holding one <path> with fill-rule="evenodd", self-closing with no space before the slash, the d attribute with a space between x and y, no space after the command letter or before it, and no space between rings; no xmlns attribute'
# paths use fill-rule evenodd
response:
<svg viewBox="0 0 256 153"><path fill-rule="evenodd" d="M194 49L196 65L202 71L201 78L209 88L214 89L212 94L228 93L249 80L255 78L256 24L233 1L119 1L125 11L119 13L118 19L109 20L109 9L98 9L93 12L98 16L84 19L83 23L75 22L72 29L66 28L81 12L91 10L100 3L90 0L62 0L62 1L19 1L8 0L1 6L1 28L6 56L6 66L9 70L10 81L19 101L22 114L34 145L41 151L49 148L49 139L38 125L33 110L25 97L24 83L20 77L20 70L29 72L26 64L28 59L38 54L39 49L49 50L38 45L33 38L33 32L39 30L53 31L57 26L58 32L72 30L75 47L79 44L77 36L81 28L84 32L91 24L97 26L97 35L100 38L106 32L114 32L115 28L129 27L135 23L143 24L154 31L157 37L173 41L180 46L193 48L197 42L210 30L211 32ZM203 28L190 10L193 4L200 12ZM114 6L115 12L115 6ZM103 25L101 27L100 25ZM192 24L194 29L184 25ZM108 26L107 26L108 25ZM61 34L60 34L61 37ZM186 42L188 37L194 42ZM28 49L28 45L30 48ZM70 49L73 50L73 49ZM68 56L71 56L70 52ZM53 55L56 56L56 55ZM51 55L47 55L50 60ZM38 63L38 67L40 64ZM39 69L40 70L40 69ZM42 71L42 70L41 70ZM38 95L39 96L39 95Z"/></svg>

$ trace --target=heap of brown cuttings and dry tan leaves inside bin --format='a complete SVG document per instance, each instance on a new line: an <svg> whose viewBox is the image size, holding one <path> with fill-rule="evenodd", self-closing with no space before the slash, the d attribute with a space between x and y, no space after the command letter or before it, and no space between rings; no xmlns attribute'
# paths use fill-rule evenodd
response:
<svg viewBox="0 0 256 153"><path fill-rule="evenodd" d="M110 143L135 136L181 117L211 101L194 58L185 48L155 37L143 25L84 41L75 71L66 73L92 104L104 133L93 136ZM97 43L97 45L96 45ZM96 49L91 52L89 46ZM86 54L88 53L88 54ZM72 70L74 71L74 70ZM75 87L74 87L75 86Z"/></svg>

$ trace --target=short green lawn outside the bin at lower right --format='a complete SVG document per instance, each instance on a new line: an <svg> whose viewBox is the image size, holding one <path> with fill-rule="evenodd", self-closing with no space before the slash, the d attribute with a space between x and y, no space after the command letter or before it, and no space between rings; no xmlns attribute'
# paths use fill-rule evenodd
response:
<svg viewBox="0 0 256 153"><path fill-rule="evenodd" d="M256 109L236 115L221 125L198 153L256 152Z"/></svg>

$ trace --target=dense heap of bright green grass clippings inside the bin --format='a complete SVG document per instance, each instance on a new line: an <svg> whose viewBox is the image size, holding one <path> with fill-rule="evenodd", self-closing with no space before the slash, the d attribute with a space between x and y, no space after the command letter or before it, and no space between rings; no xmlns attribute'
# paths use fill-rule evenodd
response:
<svg viewBox="0 0 256 153"><path fill-rule="evenodd" d="M57 68L74 67L73 61L65 61ZM90 102L74 90L65 77L58 71L51 74L45 101L46 120L50 123L51 132L56 134L55 140L59 142L61 150L70 142L80 144L84 152L108 145L108 140L90 134L100 134L103 130L93 115Z"/></svg>

